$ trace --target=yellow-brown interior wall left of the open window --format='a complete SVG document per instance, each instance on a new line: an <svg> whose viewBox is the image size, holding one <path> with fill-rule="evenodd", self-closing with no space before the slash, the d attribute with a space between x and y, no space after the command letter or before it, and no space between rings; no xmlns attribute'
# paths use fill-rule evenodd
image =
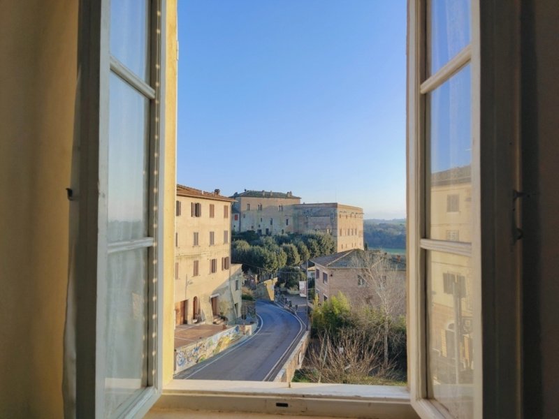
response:
<svg viewBox="0 0 559 419"><path fill-rule="evenodd" d="M62 416L78 1L0 2L0 417Z"/></svg>

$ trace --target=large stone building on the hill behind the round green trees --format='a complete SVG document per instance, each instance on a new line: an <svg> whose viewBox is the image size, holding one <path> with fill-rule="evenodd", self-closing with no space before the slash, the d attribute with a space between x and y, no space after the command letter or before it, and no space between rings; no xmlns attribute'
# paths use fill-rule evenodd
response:
<svg viewBox="0 0 559 419"><path fill-rule="evenodd" d="M363 249L363 210L339 203L301 204L293 193L245 191L231 196L236 232L259 235L324 233L333 237L336 251Z"/></svg>

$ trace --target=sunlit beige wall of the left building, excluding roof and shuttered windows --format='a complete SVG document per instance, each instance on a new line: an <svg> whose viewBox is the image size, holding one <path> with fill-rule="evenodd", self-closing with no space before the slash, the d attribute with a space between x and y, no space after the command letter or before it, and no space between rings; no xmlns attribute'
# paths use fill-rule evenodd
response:
<svg viewBox="0 0 559 419"><path fill-rule="evenodd" d="M194 318L193 302L198 298L201 314L206 323L212 323L210 297L218 296L218 314L223 312L228 318L240 315L240 304L235 313L235 302L240 302L240 286L235 291L235 277L238 265L231 266L231 202L211 199L177 196L181 203L181 214L175 217L177 247L175 249L175 303L187 300L187 321ZM201 216L191 216L191 203L201 204ZM210 205L214 205L214 217L210 217ZM228 208L224 217L224 206ZM210 232L215 241L210 245ZM224 231L228 240L224 242ZM198 233L198 245L194 245L194 232ZM228 258L230 267L222 269L222 259ZM217 260L217 272L211 272L211 260ZM198 260L198 275L194 277L194 261ZM239 279L236 277L236 279Z"/></svg>

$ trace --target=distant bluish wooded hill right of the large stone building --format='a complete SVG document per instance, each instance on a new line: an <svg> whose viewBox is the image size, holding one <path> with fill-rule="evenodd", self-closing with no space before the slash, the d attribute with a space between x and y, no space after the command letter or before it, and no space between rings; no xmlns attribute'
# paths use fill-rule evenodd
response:
<svg viewBox="0 0 559 419"><path fill-rule="evenodd" d="M369 249L405 249L406 220L363 220L363 239Z"/></svg>

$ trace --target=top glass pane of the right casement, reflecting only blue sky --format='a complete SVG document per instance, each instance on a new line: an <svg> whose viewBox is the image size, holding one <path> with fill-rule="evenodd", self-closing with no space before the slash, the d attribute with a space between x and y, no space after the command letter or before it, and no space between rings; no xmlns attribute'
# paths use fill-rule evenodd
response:
<svg viewBox="0 0 559 419"><path fill-rule="evenodd" d="M470 1L431 0L430 69L435 74L470 43Z"/></svg>

